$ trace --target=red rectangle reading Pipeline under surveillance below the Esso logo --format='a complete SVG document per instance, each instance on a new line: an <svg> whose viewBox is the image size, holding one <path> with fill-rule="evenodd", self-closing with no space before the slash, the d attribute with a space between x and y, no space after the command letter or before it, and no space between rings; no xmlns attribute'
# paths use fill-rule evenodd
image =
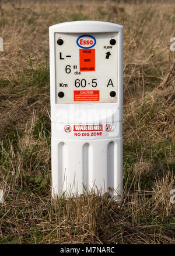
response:
<svg viewBox="0 0 175 256"><path fill-rule="evenodd" d="M95 71L95 49L79 49L79 71Z"/></svg>

